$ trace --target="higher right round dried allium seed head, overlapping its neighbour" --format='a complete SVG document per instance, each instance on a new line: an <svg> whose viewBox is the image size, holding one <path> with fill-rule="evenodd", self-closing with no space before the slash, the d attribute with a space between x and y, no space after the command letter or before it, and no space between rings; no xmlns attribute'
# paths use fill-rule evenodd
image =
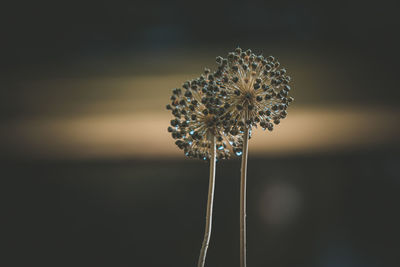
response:
<svg viewBox="0 0 400 267"><path fill-rule="evenodd" d="M231 134L257 125L272 131L274 124L286 117L294 100L289 97L291 78L273 56L264 58L250 49L236 48L227 58L217 57L216 62L216 82L227 94L224 124Z"/></svg>

